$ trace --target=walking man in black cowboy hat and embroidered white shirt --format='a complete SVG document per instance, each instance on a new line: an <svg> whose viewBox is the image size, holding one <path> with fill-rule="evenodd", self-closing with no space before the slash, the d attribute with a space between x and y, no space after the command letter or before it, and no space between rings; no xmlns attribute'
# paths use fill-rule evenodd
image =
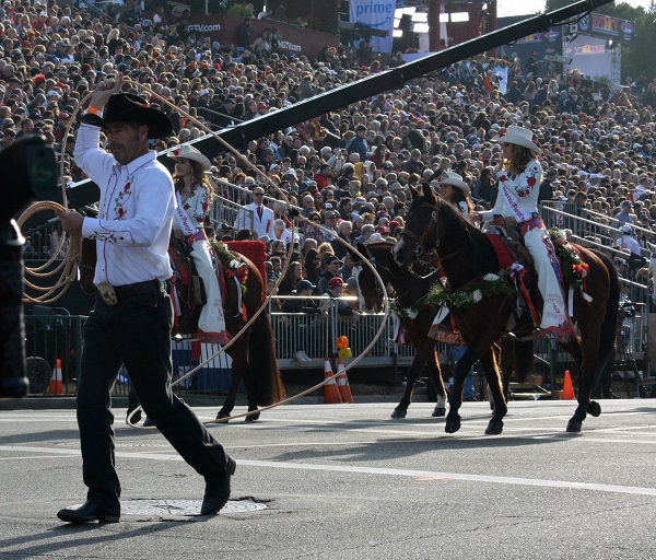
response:
<svg viewBox="0 0 656 560"><path fill-rule="evenodd" d="M230 495L235 462L171 390L172 275L168 237L173 182L149 151L171 133L168 118L122 81L103 81L91 97L75 143L75 163L101 189L98 218L57 212L63 229L95 240L98 253L93 312L84 325L78 380L78 424L86 502L57 514L70 523L118 522L120 482L114 466L110 387L121 364L143 409L183 458L206 479L200 513L218 512ZM99 148L104 129L110 153Z"/></svg>

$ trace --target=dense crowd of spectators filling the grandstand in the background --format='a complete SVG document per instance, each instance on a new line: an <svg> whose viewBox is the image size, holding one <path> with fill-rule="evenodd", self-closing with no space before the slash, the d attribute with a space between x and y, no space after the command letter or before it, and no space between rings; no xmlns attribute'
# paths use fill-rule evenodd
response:
<svg viewBox="0 0 656 560"><path fill-rule="evenodd" d="M382 57L359 48L326 47L316 59L284 54L277 49L276 28L258 40L247 19L235 37L212 42L167 21L172 16L163 4L147 8L155 12L148 27L132 0L109 13L55 0L3 0L2 145L30 132L45 135L65 161L63 180L74 183L84 175L71 156L74 135L62 138L66 127L81 100L119 72L208 127L221 128L402 63L398 52ZM508 68L503 92L500 65ZM499 156L493 140L505 127L522 125L542 148L541 200L560 200L609 223L622 220L634 226L631 234L639 226L636 241L646 247L656 231L656 80L626 83L613 91L576 73L537 75L526 73L518 59L480 56L255 139L243 158L216 156L211 173L218 195L242 205L251 202L254 188L263 188L273 220L259 236L269 241L271 261L286 258L285 243L297 244L292 259L302 265L301 278L319 287L321 275L342 276L340 270L348 281L348 253L338 237L351 243L400 235L410 186L452 171L468 183L479 209L490 208L496 190L491 170ZM143 92L134 88L133 93ZM155 150L204 133L156 97L150 101L168 114L175 131ZM290 212L272 185L296 210ZM308 222L293 221L294 213ZM253 236L234 225L218 226L216 235ZM331 257L338 266L328 262Z"/></svg>

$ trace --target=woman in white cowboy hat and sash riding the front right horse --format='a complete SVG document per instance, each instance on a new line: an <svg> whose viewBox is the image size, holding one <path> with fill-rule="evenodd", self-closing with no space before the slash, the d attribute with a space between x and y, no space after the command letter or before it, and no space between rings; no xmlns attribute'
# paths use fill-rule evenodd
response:
<svg viewBox="0 0 656 560"><path fill-rule="evenodd" d="M532 141L532 132L518 126L508 127L494 141L501 144L496 166L499 195L494 208L475 213L475 219L502 217L506 223L512 220L516 224L534 259L538 289L542 295L540 336L552 334L558 340L566 342L574 336L574 330L559 277L552 265L555 262L555 252L538 213L542 166L534 154L539 153L540 149Z"/></svg>

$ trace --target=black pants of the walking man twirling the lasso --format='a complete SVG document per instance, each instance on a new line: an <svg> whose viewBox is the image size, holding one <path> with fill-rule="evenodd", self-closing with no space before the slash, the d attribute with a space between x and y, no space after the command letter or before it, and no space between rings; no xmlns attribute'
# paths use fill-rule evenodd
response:
<svg viewBox="0 0 656 560"><path fill-rule="evenodd" d="M171 389L173 310L164 291L119 300L99 298L84 325L78 382L78 425L87 500L119 506L110 390L125 363L148 417L200 475L225 470L225 452Z"/></svg>

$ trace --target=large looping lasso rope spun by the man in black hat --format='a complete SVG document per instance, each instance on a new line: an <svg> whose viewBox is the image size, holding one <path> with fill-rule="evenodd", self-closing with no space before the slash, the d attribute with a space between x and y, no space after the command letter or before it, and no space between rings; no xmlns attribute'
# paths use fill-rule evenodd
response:
<svg viewBox="0 0 656 560"><path fill-rule="evenodd" d="M243 162L246 164L246 166L248 168L250 168L251 171L254 171L259 177L260 179L262 179L262 182L265 184L267 184L268 186L272 186L276 188L277 192L282 197L282 199L284 200L288 209L290 210L290 214L292 214L293 219L294 219L294 224L296 223L296 221L300 219L302 222L309 222L308 219L306 219L305 217L298 214L298 215L293 215L292 210L292 205L290 203L289 198L286 197L286 195L284 194L284 191L278 186L276 185L265 173L262 173L261 171L259 171L255 165L253 165L247 158L245 158L244 155L242 155L235 148L233 148L231 144L229 144L225 140L223 140L219 135L216 135L213 130L211 130L209 127L207 127L206 125L203 125L202 122L200 122L196 117L189 115L188 113L181 110L179 107L177 107L175 104L171 103L168 100L166 100L165 97L159 95L156 92L152 91L148 85L145 84L141 84L139 82L132 82L132 81L126 81L122 79L122 77L119 74L119 81L121 81L122 83L129 84L131 86L138 88L140 90L143 90L145 93L149 94L149 96L151 97L155 97L156 100L159 100L160 102L164 103L165 105L167 105L168 107L171 107L174 112L177 112L178 114L183 115L185 117L185 119L188 119L189 121L194 122L197 127L199 127L200 129L204 130L206 132L208 132L209 135L211 135L221 145L223 145L223 148L225 148L229 152L231 152L238 161ZM78 113L81 110L81 108L83 106L86 105L86 101L93 95L93 92L90 92L87 95L85 95L81 102L78 104L78 106L75 107L75 109L73 110L72 115L71 115L71 119L69 121L69 124L66 127L65 133L62 136L62 142L66 142L66 138L69 136L71 128L75 121L75 117L78 115ZM37 212L44 211L44 210L68 210L67 206L68 206L68 201L67 201L67 196L66 196L66 185L63 183L63 171L65 171L65 166L63 166L63 158L60 159L60 180L62 182L61 185L61 189L62 189L62 201L63 201L63 206L58 205L56 202L35 202L34 205L32 205L19 219L19 225L22 225L23 223L25 223L25 221L34 215ZM225 182L224 182L225 183ZM325 233L331 234L332 232L330 230L328 230L327 228L325 228L324 225L317 225L315 223L312 223L313 226L315 228L319 228L321 231L324 231ZM66 243L66 236L68 235L69 237L69 249L66 254L66 258L62 260L62 262L52 271L49 272L43 272L44 269L48 268L48 266L50 266L57 258L57 255L59 254L59 252L62 249L65 243ZM385 283L383 282L383 279L380 278L380 276L378 275L376 268L368 261L368 259L362 255L355 247L353 247L350 243L343 241L341 237L336 237L337 240L339 240L339 242L342 245L345 245L350 250L352 250L355 255L358 255L363 262L366 264L366 266L370 267L370 269L372 270L372 272L374 273L374 277L376 278L376 281L379 282L379 284L382 287L385 287ZM52 256L50 257L50 259L43 266L38 267L38 268L25 268L26 272L31 276L34 277L48 277L48 276L54 276L55 273L57 273L58 271L61 270L61 276L59 278L59 280L56 282L56 284L52 288L39 288L39 287L35 287L30 282L26 282L26 284L37 291L44 291L45 293L42 296L38 298L32 298L28 294L24 294L23 300L26 302L33 302L33 303L51 303L57 301L65 292L66 290L68 290L68 288L70 287L70 284L72 283L73 280L77 279L77 271L78 271L78 267L80 266L80 256L81 256L81 248L82 248L82 238L80 235L70 235L70 234L63 234L60 237L59 241L59 246L57 247L56 250L52 250ZM185 373L185 375L183 377L179 377L178 380L176 380L173 384L172 387L181 383L183 381L185 381L186 378L190 377L191 375L194 375L198 370L200 370L202 366L204 366L207 363L211 362L212 360L214 360L216 357L219 357L221 353L225 352L225 350L227 350L249 327L250 325L259 317L259 315L261 313L265 312L265 310L267 308L267 306L269 305L269 302L271 300L271 298L273 296L273 293L278 290L278 285L280 284L280 282L282 281L284 275L286 273L288 267L290 266L290 256L292 254L292 249L293 249L293 243L289 244L288 247L288 254L286 254L286 258L285 258L285 262L284 262L284 267L282 269L282 272L278 279L278 281L276 282L276 288L272 291L271 295L269 295L266 301L262 302L262 304L260 305L260 307L257 310L257 312L255 312L253 314L253 316L248 319L248 322L244 325L244 327L242 327L242 329L235 334L232 339L223 345L221 347L221 349L215 352L213 355L209 357L204 362L201 362L200 364L198 364L196 368L194 368L192 370L188 371ZM56 293L57 290L61 291L59 293ZM355 366L374 347L374 345L376 343L376 341L378 340L378 338L380 338L380 335L383 334L383 330L385 329L385 319L387 319L388 315L389 315L389 301L388 301L388 296L387 296L387 292L385 290L383 290L384 292L384 320L380 322L380 327L378 328L378 330L376 331L376 334L374 335L372 341L368 343L368 346L366 348L364 348L364 350L360 353L360 355L358 355L356 358L353 359L353 361L351 363L349 363L344 370L342 370L343 372L348 372L351 368ZM55 294L55 295L52 295ZM52 295L52 298L50 298L50 295ZM227 422L230 420L234 420L237 418L243 418L243 417L247 417L250 415L257 415L260 413L265 410L269 410L271 408L274 407L279 407L281 405L286 405L289 402L292 402L305 395L308 395L311 393L314 393L315 390L319 389L320 387L323 387L325 384L330 383L332 380L335 380L339 374L342 373L342 371L339 371L337 373L335 373L332 376L325 378L321 383L316 384L313 387L309 387L306 390L303 390L302 393L298 393L292 397L285 398L279 402L274 402L273 405L269 405L262 408L258 408L256 410L250 410L248 412L244 412L244 413L239 413L239 415L234 415L231 416L229 418L221 418L221 419L215 419L215 420L210 420L210 421L206 421L203 422L203 424L213 424L213 423L221 423L221 422ZM143 428L143 427L139 427L136 424L131 423L131 418L133 415L136 415L138 411L141 410L141 407L138 407L137 409L134 409L127 418L126 418L126 422L128 423L128 425L132 427L132 428L137 428L140 430L148 430L150 428Z"/></svg>

